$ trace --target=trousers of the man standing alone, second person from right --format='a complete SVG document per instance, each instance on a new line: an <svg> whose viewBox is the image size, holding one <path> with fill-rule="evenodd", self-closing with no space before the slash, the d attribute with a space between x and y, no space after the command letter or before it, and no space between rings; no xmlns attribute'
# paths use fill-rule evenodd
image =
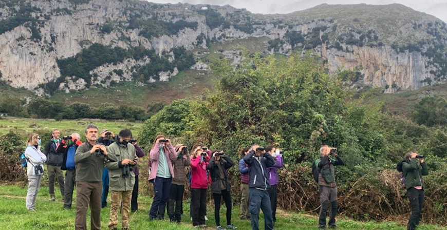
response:
<svg viewBox="0 0 447 230"><path fill-rule="evenodd" d="M329 226L335 226L336 225L335 217L337 216L337 208L338 208L337 188L320 186L319 193L320 193L321 209L318 224L319 226L326 226L327 209L329 208L329 202L330 202L331 209L329 215Z"/></svg>

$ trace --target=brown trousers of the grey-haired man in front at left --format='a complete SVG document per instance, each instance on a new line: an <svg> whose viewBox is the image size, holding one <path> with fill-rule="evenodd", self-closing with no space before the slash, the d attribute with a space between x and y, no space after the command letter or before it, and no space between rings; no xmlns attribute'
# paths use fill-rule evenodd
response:
<svg viewBox="0 0 447 230"><path fill-rule="evenodd" d="M90 229L101 229L101 182L76 182L76 219L74 229L87 229L87 207L90 205Z"/></svg>

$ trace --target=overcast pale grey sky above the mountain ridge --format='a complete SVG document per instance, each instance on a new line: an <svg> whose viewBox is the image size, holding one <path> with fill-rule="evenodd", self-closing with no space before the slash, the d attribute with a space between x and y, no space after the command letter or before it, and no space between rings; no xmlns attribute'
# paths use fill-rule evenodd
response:
<svg viewBox="0 0 447 230"><path fill-rule="evenodd" d="M327 4L392 4L400 3L415 10L435 15L447 22L447 0L150 0L154 3L191 3L211 5L231 5L247 8L253 13L290 13L304 10L323 3Z"/></svg>

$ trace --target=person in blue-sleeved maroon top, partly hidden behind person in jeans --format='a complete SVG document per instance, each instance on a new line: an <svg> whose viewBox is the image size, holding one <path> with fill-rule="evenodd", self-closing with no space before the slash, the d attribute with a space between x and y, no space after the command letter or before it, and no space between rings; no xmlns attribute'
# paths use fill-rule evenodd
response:
<svg viewBox="0 0 447 230"><path fill-rule="evenodd" d="M248 154L250 148L244 148L241 152L241 158L239 161L239 172L240 172L240 219L241 220L250 220L251 215L248 212L248 204L249 204L249 186L248 182L250 180L250 174L248 170L248 165L244 161L245 155Z"/></svg>

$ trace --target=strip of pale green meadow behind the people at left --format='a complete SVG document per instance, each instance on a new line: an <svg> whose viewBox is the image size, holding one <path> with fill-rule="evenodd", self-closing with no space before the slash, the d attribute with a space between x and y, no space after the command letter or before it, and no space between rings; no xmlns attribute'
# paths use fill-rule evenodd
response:
<svg viewBox="0 0 447 230"><path fill-rule="evenodd" d="M61 130L61 136L70 135L72 132L82 134L88 124L95 124L100 130L109 129L114 133L118 133L121 129L129 128L133 130L134 136L137 135L141 123L133 123L126 121L105 121L105 120L61 120L52 119L27 119L27 118L7 118L0 119L0 136L8 133L9 130L15 129L22 132L31 132L34 130L48 130L58 128Z"/></svg>

